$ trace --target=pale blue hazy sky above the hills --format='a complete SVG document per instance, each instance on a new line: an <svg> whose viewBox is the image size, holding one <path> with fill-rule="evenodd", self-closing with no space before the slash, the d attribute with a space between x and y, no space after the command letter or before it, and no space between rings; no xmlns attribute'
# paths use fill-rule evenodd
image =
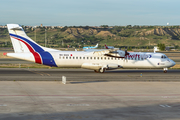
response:
<svg viewBox="0 0 180 120"><path fill-rule="evenodd" d="M180 25L180 0L0 0L0 25Z"/></svg>

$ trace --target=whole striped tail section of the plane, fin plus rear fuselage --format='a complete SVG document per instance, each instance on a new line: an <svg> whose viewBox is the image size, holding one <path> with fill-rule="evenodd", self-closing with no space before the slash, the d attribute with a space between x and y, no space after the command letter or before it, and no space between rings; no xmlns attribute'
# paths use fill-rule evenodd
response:
<svg viewBox="0 0 180 120"><path fill-rule="evenodd" d="M49 51L59 50L38 45L26 35L23 28L18 24L7 24L7 27L15 52L8 53L8 56L57 67L54 58Z"/></svg>

